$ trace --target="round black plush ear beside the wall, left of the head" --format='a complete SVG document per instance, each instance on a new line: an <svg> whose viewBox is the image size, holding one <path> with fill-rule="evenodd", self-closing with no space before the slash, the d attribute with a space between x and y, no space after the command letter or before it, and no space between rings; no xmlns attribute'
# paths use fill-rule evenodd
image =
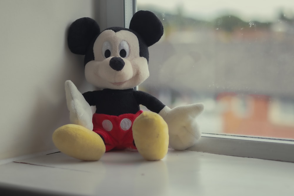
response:
<svg viewBox="0 0 294 196"><path fill-rule="evenodd" d="M85 55L91 41L98 36L100 28L91 18L80 18L69 27L67 43L72 53Z"/></svg>

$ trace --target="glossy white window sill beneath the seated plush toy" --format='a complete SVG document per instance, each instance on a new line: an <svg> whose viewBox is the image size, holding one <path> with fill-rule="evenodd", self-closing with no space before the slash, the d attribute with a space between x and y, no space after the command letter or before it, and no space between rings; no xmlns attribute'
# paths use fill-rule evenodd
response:
<svg viewBox="0 0 294 196"><path fill-rule="evenodd" d="M0 165L0 190L30 195L293 195L293 173L294 163L188 150L169 150L154 162L137 152L109 152L98 162L54 153Z"/></svg>

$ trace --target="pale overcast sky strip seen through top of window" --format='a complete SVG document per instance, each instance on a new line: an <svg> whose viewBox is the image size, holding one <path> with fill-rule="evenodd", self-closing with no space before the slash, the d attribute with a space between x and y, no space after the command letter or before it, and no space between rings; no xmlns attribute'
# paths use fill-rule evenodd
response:
<svg viewBox="0 0 294 196"><path fill-rule="evenodd" d="M155 5L163 12L173 13L181 5L186 16L208 20L219 16L224 10L248 21L275 20L280 9L284 9L286 17L294 17L294 0L137 0L137 4Z"/></svg>

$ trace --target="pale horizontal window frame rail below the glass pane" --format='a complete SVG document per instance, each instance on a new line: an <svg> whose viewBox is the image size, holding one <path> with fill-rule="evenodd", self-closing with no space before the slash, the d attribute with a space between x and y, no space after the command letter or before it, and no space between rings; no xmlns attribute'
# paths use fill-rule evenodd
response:
<svg viewBox="0 0 294 196"><path fill-rule="evenodd" d="M290 139L203 133L188 150L294 163L294 141Z"/></svg>

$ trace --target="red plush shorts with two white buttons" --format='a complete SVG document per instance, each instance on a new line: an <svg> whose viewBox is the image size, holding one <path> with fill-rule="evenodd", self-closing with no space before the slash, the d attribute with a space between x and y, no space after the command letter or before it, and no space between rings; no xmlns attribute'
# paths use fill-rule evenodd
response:
<svg viewBox="0 0 294 196"><path fill-rule="evenodd" d="M134 145L132 125L142 112L140 110L136 114L119 116L93 114L93 131L102 137L106 152L112 149L137 149Z"/></svg>

